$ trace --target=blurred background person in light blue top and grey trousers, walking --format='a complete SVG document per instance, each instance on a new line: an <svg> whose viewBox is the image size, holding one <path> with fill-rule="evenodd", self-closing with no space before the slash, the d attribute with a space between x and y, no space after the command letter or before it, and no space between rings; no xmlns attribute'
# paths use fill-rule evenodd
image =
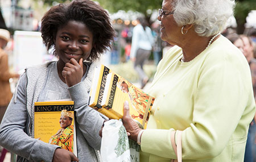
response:
<svg viewBox="0 0 256 162"><path fill-rule="evenodd" d="M139 75L141 88L147 84L149 78L143 70L145 61L148 60L154 44L152 31L148 27L148 23L144 17L138 18L138 24L133 28L133 36L131 39L130 59L134 61L134 69Z"/></svg>

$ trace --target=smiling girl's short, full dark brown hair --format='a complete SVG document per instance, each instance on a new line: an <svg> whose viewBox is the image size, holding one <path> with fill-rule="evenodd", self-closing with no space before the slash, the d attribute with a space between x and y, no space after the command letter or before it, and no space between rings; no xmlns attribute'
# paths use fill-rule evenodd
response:
<svg viewBox="0 0 256 162"><path fill-rule="evenodd" d="M93 48L88 61L98 59L101 53L112 47L115 31L108 13L93 1L75 0L68 5L53 6L44 14L41 32L47 49L54 47L57 30L70 20L84 23L93 34Z"/></svg>

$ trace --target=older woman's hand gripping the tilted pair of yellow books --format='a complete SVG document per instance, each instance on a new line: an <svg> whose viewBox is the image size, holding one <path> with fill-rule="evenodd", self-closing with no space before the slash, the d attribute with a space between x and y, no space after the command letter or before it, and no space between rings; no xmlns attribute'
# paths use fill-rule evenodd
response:
<svg viewBox="0 0 256 162"><path fill-rule="evenodd" d="M130 117L129 112L129 103L128 101L125 101L125 103L123 104L123 126L125 126L126 128L129 138L137 142L139 131L141 131L142 129L139 128L138 124Z"/></svg>

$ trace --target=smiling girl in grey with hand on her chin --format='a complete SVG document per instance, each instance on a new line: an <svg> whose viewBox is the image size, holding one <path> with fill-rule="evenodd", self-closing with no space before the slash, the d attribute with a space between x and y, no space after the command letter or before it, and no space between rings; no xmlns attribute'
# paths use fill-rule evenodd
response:
<svg viewBox="0 0 256 162"><path fill-rule="evenodd" d="M98 161L104 119L87 101L94 61L114 38L108 13L89 0L60 4L43 16L41 31L59 60L27 68L20 77L0 127L0 145L17 154L17 161ZM78 159L33 138L34 102L67 98L75 102Z"/></svg>

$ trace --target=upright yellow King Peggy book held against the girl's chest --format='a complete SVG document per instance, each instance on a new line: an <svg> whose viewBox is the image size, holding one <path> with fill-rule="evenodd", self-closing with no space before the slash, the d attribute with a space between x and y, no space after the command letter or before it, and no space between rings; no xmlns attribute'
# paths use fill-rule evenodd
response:
<svg viewBox="0 0 256 162"><path fill-rule="evenodd" d="M34 110L34 138L56 144L77 156L74 102L35 102Z"/></svg>

